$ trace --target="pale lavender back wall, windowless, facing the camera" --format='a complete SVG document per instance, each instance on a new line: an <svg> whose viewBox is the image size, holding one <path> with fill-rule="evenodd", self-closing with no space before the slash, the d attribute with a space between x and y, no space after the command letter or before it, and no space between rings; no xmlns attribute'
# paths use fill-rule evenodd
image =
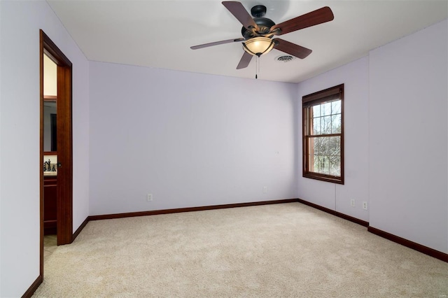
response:
<svg viewBox="0 0 448 298"><path fill-rule="evenodd" d="M294 84L90 62L90 215L295 198L296 97Z"/></svg>

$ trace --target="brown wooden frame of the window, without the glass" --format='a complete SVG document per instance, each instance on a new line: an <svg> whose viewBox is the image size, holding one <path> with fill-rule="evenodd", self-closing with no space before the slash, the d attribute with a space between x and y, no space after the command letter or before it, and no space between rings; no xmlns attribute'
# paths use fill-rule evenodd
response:
<svg viewBox="0 0 448 298"><path fill-rule="evenodd" d="M309 134L309 127L312 125L310 121L309 111L313 106L323 104L335 99L341 100L341 132L340 134L319 134L319 137L340 136L341 141L341 176L332 176L324 173L309 171L309 143L316 136ZM316 180L327 181L331 183L344 184L344 84L330 87L325 90L314 92L302 97L302 176Z"/></svg>

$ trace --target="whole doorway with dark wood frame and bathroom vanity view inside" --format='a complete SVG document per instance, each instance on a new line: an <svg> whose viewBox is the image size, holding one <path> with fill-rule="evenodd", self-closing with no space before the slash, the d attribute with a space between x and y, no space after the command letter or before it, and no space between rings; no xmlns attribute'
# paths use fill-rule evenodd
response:
<svg viewBox="0 0 448 298"><path fill-rule="evenodd" d="M50 60L45 62L45 59ZM45 84L44 64L55 67L55 86ZM53 66L52 66L53 65ZM41 276L43 277L43 237L56 234L57 245L73 241L73 144L71 122L72 64L50 38L40 31L41 144L42 163ZM45 86L44 86L45 85Z"/></svg>

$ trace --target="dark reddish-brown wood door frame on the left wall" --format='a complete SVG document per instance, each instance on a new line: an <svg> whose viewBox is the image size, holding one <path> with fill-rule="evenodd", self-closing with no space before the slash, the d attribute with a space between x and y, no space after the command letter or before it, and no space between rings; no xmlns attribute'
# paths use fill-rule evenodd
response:
<svg viewBox="0 0 448 298"><path fill-rule="evenodd" d="M57 245L73 241L72 64L40 30L41 159L43 162L43 55L57 64ZM42 169L42 166L40 166ZM43 277L43 171L41 177L41 276Z"/></svg>

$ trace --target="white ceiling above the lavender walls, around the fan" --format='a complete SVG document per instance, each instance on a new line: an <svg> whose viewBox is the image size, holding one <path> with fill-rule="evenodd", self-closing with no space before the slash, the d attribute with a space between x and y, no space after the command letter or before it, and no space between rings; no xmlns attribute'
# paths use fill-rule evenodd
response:
<svg viewBox="0 0 448 298"><path fill-rule="evenodd" d="M241 43L191 50L190 46L241 37L241 24L218 0L47 0L87 59L255 77L255 59L237 70ZM448 1L241 1L246 10L263 4L277 24L329 6L335 20L281 38L313 50L284 63L272 50L260 57L258 78L298 83L360 57L369 50L447 18ZM421 53L424 55L424 53ZM284 54L286 55L286 54Z"/></svg>

